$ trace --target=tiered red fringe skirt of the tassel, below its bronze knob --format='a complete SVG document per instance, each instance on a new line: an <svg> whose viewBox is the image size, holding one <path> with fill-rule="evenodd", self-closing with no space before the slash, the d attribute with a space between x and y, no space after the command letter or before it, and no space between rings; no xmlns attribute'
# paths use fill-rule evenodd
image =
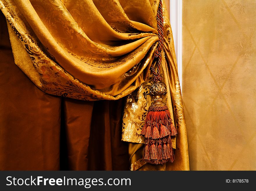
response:
<svg viewBox="0 0 256 191"><path fill-rule="evenodd" d="M177 130L169 110L149 111L141 134L145 136L144 160L152 164L173 162L171 135L176 135Z"/></svg>

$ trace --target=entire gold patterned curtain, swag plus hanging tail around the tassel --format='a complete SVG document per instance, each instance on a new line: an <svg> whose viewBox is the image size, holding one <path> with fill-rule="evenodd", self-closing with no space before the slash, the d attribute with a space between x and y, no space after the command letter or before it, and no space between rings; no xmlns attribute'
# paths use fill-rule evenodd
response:
<svg viewBox="0 0 256 191"><path fill-rule="evenodd" d="M9 23L15 64L42 91L86 101L132 97L131 93L135 94L138 87L145 89L144 82L151 79L150 66L155 64L158 5L159 0L0 0ZM173 108L172 117L178 131L177 138L172 139L176 143L176 160L164 167L188 170L186 126L166 11L163 24L162 54L166 59L162 62L162 75L170 89L166 104ZM142 100L143 97L137 101ZM141 104L139 102L134 103ZM131 111L128 102L126 108L125 112L136 113L128 119L132 124L147 110L145 106ZM134 142L130 146L131 161L141 158L138 145L143 140L135 140L141 135L139 130L134 132L140 126L132 126L127 131L127 126L123 125L123 140ZM131 131L132 136L124 139L125 133Z"/></svg>

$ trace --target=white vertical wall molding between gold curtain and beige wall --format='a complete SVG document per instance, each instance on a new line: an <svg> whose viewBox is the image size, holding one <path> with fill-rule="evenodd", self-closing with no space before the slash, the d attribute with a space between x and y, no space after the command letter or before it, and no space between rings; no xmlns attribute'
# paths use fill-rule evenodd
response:
<svg viewBox="0 0 256 191"><path fill-rule="evenodd" d="M182 0L170 0L170 24L178 65L178 75L182 92Z"/></svg>

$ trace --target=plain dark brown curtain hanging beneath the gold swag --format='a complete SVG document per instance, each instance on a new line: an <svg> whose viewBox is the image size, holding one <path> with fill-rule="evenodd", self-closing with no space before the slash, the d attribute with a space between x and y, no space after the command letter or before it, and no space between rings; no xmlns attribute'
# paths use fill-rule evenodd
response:
<svg viewBox="0 0 256 191"><path fill-rule="evenodd" d="M47 94L15 65L0 17L0 169L129 170L121 141L124 100Z"/></svg>

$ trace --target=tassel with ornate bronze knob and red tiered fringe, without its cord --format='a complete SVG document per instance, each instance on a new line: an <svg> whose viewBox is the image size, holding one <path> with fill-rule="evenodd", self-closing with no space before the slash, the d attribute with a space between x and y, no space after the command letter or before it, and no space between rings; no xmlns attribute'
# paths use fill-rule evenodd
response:
<svg viewBox="0 0 256 191"><path fill-rule="evenodd" d="M153 83L150 87L154 103L149 107L141 131L145 136L143 159L151 164L163 164L174 160L171 135L176 135L177 130L168 107L162 102L165 93L166 85L162 82Z"/></svg>

